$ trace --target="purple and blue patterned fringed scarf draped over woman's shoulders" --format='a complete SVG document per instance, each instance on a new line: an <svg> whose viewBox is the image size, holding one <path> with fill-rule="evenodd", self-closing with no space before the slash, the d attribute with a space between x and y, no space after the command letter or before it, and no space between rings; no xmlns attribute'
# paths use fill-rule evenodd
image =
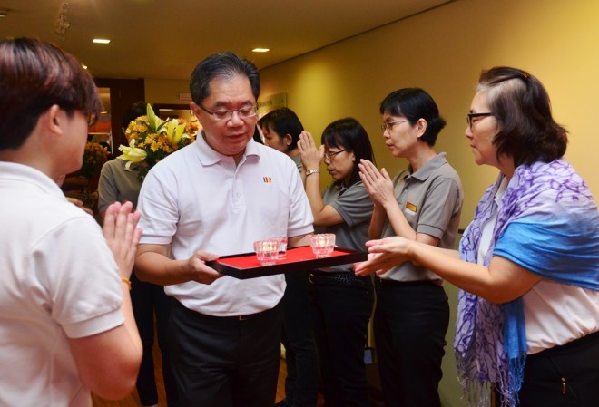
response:
<svg viewBox="0 0 599 407"><path fill-rule="evenodd" d="M522 165L497 209L503 179L500 174L478 203L461 258L477 263L482 229L498 210L484 266L493 256L506 257L544 279L599 290L599 214L578 173L564 159ZM515 406L527 351L522 297L495 305L460 291L454 348L470 405L489 405L495 387L502 407Z"/></svg>

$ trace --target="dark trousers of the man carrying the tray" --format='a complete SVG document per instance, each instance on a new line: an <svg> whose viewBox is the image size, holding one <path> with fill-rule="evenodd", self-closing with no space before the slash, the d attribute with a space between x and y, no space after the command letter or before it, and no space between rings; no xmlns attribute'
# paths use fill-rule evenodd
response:
<svg viewBox="0 0 599 407"><path fill-rule="evenodd" d="M181 407L269 407L277 396L282 306L248 318L203 315L173 302L172 371Z"/></svg>

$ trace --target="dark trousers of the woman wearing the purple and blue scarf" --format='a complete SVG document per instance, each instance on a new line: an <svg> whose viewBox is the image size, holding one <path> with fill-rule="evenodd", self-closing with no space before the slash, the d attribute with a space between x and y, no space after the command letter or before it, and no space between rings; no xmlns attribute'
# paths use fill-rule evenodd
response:
<svg viewBox="0 0 599 407"><path fill-rule="evenodd" d="M520 407L599 405L599 333L526 357Z"/></svg>

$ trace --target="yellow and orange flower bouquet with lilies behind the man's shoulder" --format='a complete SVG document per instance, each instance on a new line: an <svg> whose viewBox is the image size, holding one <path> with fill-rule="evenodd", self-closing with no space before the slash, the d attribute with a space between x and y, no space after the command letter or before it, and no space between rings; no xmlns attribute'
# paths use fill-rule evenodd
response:
<svg viewBox="0 0 599 407"><path fill-rule="evenodd" d="M163 121L156 116L148 103L147 115L131 121L125 130L129 146L119 146L123 152L117 157L126 160L125 170L131 170L131 165L137 163L137 179L143 182L148 171L157 162L195 141L200 129L197 121L182 119L167 119Z"/></svg>

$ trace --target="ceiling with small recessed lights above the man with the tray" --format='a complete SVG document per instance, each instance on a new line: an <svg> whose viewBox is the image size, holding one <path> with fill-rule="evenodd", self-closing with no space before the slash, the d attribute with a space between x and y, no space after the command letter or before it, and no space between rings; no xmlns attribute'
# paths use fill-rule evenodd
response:
<svg viewBox="0 0 599 407"><path fill-rule="evenodd" d="M58 44L95 77L181 79L211 53L259 69L452 0L0 0L0 38ZM59 39L62 5L71 24ZM92 44L107 37L111 44ZM251 53L268 47L270 53Z"/></svg>

